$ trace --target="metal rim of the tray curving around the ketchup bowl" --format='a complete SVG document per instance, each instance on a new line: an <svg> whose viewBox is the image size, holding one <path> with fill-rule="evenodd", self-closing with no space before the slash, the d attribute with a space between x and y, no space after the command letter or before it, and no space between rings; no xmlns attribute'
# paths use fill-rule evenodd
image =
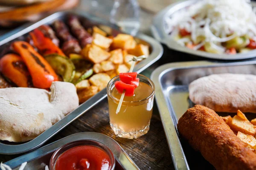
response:
<svg viewBox="0 0 256 170"><path fill-rule="evenodd" d="M5 164L9 165L12 169L17 168L23 162L25 161L29 162L29 161L35 160L36 158L40 158L41 156L46 155L47 153L51 153L57 150L59 147L61 147L64 144L67 144L73 141L84 140L84 139L95 140L107 145L113 152L115 158L122 164L123 167L125 167L125 169L140 170L140 168L137 167L134 161L132 161L132 159L128 156L128 154L125 153L122 147L113 138L107 135L104 135L102 133L96 133L96 132L75 133L73 135L59 139L58 141L47 144L46 146L41 147L37 150L34 150L31 153L28 153L26 155L19 156L15 159L7 161Z"/></svg>

